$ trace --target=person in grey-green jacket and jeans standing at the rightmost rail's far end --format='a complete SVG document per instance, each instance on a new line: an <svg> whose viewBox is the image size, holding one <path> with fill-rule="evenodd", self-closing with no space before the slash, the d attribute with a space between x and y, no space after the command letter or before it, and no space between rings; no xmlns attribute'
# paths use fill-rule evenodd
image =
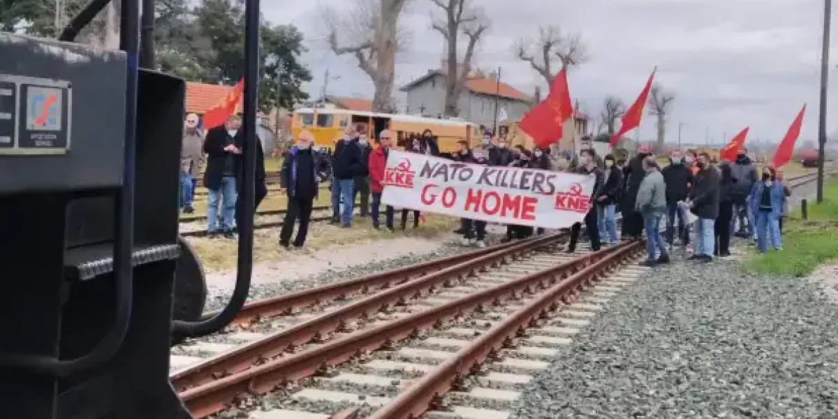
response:
<svg viewBox="0 0 838 419"><path fill-rule="evenodd" d="M660 235L660 225L666 215L666 183L664 175L660 173L660 166L649 156L643 160L646 176L640 182L635 200L635 209L643 215L644 230L646 231L647 257L643 266L656 266L669 263L670 256L666 250L664 238ZM657 256L657 257L655 257Z"/></svg>

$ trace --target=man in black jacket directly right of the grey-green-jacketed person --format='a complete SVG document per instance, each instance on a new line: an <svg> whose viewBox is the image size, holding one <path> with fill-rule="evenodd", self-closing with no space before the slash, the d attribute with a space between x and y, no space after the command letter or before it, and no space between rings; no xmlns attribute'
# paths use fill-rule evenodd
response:
<svg viewBox="0 0 838 419"><path fill-rule="evenodd" d="M692 184L692 170L684 164L684 157L679 151L670 154L670 165L660 171L666 183L666 242L672 246L675 241L675 217L678 217L678 237L681 244L690 244L690 226L685 214L678 207L678 202L686 199Z"/></svg>

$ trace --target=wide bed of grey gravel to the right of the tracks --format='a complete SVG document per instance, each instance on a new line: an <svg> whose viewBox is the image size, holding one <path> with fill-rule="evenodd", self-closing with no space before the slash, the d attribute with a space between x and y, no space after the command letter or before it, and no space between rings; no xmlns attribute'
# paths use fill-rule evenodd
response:
<svg viewBox="0 0 838 419"><path fill-rule="evenodd" d="M838 306L812 281L679 260L573 340L510 419L838 417Z"/></svg>

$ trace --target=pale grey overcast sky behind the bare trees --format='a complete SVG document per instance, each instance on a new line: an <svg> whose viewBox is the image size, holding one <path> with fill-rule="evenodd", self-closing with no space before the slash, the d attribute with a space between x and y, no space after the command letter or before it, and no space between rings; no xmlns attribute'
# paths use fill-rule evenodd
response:
<svg viewBox="0 0 838 419"><path fill-rule="evenodd" d="M430 29L436 13L427 0L403 16L411 44L397 58L396 84L438 68L442 37ZM352 0L262 0L273 23L293 23L308 37L304 56L315 79L312 96L372 97L369 78L349 56L328 51L318 25L318 10L348 7ZM716 143L750 126L749 141L779 141L804 102L808 102L800 141L817 136L820 39L823 0L479 0L493 27L484 37L473 65L502 67L502 79L531 95L540 76L517 60L512 45L535 36L539 25L560 24L579 32L591 59L569 76L571 94L583 109L597 114L603 97L630 103L658 66L656 80L675 91L667 141L704 143L706 130ZM531 4L531 6L530 6ZM342 6L346 5L346 6ZM834 32L838 32L838 28ZM834 38L834 37L833 37ZM838 63L833 40L832 62ZM830 76L838 76L830 65ZM838 80L835 80L838 82ZM830 97L835 96L830 89ZM830 100L830 115L838 101ZM833 128L829 126L829 131ZM654 137L654 120L644 116L640 137Z"/></svg>

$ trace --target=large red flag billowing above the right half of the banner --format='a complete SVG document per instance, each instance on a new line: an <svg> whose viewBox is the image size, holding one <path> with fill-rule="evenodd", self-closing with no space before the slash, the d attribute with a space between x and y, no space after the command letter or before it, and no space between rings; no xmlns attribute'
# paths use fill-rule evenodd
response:
<svg viewBox="0 0 838 419"><path fill-rule="evenodd" d="M543 148L561 140L561 126L571 116L573 104L567 87L567 72L561 69L553 78L550 94L521 118L518 127L532 137L535 145Z"/></svg>

